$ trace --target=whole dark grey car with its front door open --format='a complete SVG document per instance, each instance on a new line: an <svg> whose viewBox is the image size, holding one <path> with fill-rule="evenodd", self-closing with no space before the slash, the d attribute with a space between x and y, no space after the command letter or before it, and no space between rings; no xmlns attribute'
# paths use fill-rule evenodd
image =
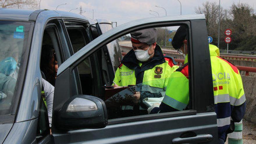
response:
<svg viewBox="0 0 256 144"><path fill-rule="evenodd" d="M15 11L0 9L1 22L17 21L14 31L21 32L22 26L24 31L24 36L11 32L11 37L23 43L19 77L10 94L13 98L6 99L9 107L1 108L1 143L218 143L204 15L140 19L108 30L109 21L90 24L71 13ZM139 29L179 25L189 28L190 100L186 110L127 117L119 115L118 106L109 109L104 86L112 84L121 60L115 40ZM39 67L40 47L49 42L60 65L52 135L40 95ZM130 87L127 93L139 87ZM117 95L122 97L124 91Z"/></svg>

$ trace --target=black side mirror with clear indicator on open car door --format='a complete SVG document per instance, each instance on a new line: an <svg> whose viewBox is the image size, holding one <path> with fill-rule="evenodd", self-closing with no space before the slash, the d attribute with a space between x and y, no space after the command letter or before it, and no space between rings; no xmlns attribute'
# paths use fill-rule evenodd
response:
<svg viewBox="0 0 256 144"><path fill-rule="evenodd" d="M104 101L89 95L71 97L54 116L54 125L61 130L103 128L108 123Z"/></svg>

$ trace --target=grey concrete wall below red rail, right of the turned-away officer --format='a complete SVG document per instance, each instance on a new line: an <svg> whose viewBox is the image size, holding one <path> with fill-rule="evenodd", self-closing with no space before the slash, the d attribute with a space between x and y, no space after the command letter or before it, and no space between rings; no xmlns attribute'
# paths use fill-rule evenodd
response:
<svg viewBox="0 0 256 144"><path fill-rule="evenodd" d="M243 89L246 96L244 119L256 124L256 77L242 75Z"/></svg>

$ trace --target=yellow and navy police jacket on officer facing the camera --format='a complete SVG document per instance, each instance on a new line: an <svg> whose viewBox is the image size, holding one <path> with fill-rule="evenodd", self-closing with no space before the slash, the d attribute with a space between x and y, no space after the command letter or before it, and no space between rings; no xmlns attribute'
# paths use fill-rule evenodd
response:
<svg viewBox="0 0 256 144"><path fill-rule="evenodd" d="M134 51L131 50L125 55L121 65L116 70L113 81L118 86L142 84L141 99L163 97L168 84L168 77L178 67L173 58L163 56L159 45L155 48L153 58L145 63L138 61ZM146 94L143 95L143 93Z"/></svg>

